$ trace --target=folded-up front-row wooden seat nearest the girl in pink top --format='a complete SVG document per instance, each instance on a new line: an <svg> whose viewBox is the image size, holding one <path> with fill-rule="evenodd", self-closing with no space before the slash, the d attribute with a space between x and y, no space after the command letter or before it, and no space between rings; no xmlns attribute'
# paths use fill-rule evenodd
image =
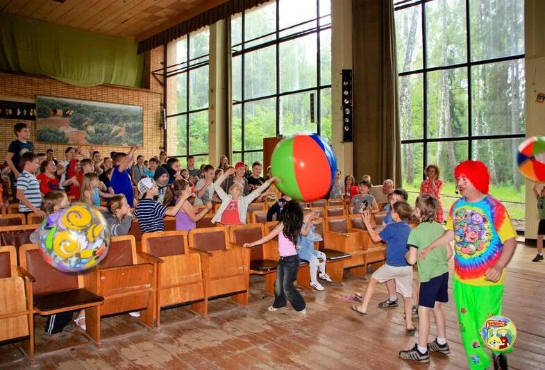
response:
<svg viewBox="0 0 545 370"><path fill-rule="evenodd" d="M194 228L189 233L192 251L201 255L206 298L233 296L248 305L250 251L229 244L228 228Z"/></svg>

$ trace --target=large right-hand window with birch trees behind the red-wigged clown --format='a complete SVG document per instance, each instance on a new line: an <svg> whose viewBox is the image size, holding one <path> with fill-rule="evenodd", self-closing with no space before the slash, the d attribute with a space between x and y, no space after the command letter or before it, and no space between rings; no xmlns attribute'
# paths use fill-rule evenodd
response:
<svg viewBox="0 0 545 370"><path fill-rule="evenodd" d="M439 165L445 211L456 197L453 169L471 158L485 162L492 195L523 221L523 6L396 0L403 186L416 194L426 165Z"/></svg>

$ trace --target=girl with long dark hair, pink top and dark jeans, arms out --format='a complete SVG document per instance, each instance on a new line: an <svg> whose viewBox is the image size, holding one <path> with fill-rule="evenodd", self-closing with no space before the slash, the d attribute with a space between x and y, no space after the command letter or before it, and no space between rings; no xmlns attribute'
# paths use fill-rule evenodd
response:
<svg viewBox="0 0 545 370"><path fill-rule="evenodd" d="M240 185L238 185L240 187ZM242 187L240 190L242 191ZM273 239L278 235L278 254L280 260L276 267L276 281L274 282L274 303L268 308L269 311L278 311L285 308L287 301L290 301L294 310L301 316L307 313L306 303L301 293L294 287L294 280L299 271L299 255L295 249L299 235L306 236L310 233L312 220L317 214L308 212L303 220L303 209L297 201L289 201L284 207L282 221L269 233L269 235L256 240L253 243L245 243L244 246L251 248ZM303 222L305 228L303 229Z"/></svg>

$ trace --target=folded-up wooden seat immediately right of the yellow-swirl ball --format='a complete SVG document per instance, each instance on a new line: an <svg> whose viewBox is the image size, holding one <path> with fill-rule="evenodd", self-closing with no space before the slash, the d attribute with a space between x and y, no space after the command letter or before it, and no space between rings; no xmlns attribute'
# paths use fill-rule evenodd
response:
<svg viewBox="0 0 545 370"><path fill-rule="evenodd" d="M97 323L106 315L140 311L140 321L153 326L158 263L152 255L137 253L133 235L111 237L106 258L83 274L85 287L104 297L103 305L85 310L87 333L95 342L101 337Z"/></svg>

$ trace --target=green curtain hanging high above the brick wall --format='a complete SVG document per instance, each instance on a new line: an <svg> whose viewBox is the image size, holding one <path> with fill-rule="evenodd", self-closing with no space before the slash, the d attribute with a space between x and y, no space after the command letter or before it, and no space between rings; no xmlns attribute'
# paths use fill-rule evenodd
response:
<svg viewBox="0 0 545 370"><path fill-rule="evenodd" d="M0 12L0 69L78 86L142 87L144 56L133 40Z"/></svg>

